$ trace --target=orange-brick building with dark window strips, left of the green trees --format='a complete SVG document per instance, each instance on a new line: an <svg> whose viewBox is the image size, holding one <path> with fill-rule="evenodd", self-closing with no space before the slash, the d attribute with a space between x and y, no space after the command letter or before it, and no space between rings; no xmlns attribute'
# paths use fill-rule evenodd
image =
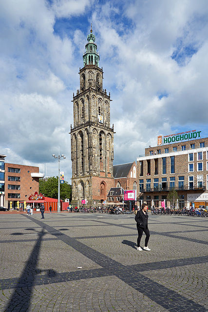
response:
<svg viewBox="0 0 208 312"><path fill-rule="evenodd" d="M17 201L27 200L31 194L39 193L39 178L44 174L39 173L39 168L5 163L4 171L4 206L17 207Z"/></svg>

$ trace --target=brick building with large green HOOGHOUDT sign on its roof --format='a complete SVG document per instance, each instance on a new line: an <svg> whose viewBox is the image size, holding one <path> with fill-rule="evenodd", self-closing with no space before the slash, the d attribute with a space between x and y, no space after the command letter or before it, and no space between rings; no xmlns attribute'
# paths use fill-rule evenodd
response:
<svg viewBox="0 0 208 312"><path fill-rule="evenodd" d="M140 204L146 201L149 207L161 207L165 201L170 206L167 195L175 188L178 208L208 206L208 138L196 137L200 137L200 132L190 133L189 137L168 136L164 142L173 143L146 148L145 155L137 157ZM190 139L182 141L184 138Z"/></svg>

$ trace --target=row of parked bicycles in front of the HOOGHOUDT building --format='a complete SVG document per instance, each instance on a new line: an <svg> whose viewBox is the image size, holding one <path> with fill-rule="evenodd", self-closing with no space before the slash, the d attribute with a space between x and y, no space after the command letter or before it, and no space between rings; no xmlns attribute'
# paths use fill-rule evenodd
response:
<svg viewBox="0 0 208 312"><path fill-rule="evenodd" d="M170 208L153 208L151 209L151 215L187 215L187 216L201 216L208 217L207 209L170 209Z"/></svg>

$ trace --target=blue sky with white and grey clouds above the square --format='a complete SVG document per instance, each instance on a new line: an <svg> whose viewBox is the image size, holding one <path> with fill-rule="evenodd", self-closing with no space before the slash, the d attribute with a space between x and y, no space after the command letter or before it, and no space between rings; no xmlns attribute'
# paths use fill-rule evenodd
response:
<svg viewBox="0 0 208 312"><path fill-rule="evenodd" d="M114 164L157 136L208 137L207 0L0 1L0 153L71 183L73 92L91 23L111 92Z"/></svg>

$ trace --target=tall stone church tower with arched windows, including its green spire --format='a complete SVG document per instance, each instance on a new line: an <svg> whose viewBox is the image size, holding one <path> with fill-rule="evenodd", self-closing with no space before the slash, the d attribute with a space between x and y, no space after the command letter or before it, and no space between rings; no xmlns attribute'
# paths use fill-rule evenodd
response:
<svg viewBox="0 0 208 312"><path fill-rule="evenodd" d="M110 93L103 89L95 36L87 36L84 67L79 69L80 90L73 94L71 125L72 205L95 206L107 200L114 186L113 128L110 126Z"/></svg>

